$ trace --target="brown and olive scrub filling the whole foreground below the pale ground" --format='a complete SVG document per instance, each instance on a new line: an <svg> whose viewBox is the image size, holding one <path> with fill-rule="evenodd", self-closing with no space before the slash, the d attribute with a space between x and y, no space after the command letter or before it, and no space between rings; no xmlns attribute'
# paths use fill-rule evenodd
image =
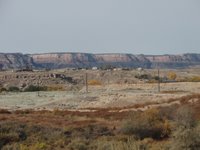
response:
<svg viewBox="0 0 200 150"><path fill-rule="evenodd" d="M198 150L200 95L179 101L145 111L1 110L0 149Z"/></svg>

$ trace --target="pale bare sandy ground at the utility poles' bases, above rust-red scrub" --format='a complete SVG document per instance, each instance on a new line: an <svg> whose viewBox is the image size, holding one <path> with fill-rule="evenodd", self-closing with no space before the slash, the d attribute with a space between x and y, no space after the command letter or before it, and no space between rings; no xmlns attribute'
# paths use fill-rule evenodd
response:
<svg viewBox="0 0 200 150"><path fill-rule="evenodd" d="M166 102L192 93L200 93L200 83L162 83L161 92L157 84L112 84L90 86L79 92L20 92L1 93L0 108L20 109L62 109L79 110L86 108L124 107L146 102Z"/></svg>

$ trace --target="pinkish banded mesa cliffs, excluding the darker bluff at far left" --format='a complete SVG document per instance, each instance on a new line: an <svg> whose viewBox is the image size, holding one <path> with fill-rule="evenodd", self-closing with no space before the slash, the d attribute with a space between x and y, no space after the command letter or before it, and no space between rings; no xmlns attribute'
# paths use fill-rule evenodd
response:
<svg viewBox="0 0 200 150"><path fill-rule="evenodd" d="M116 67L144 68L185 68L200 65L200 54L182 55L132 55L132 54L87 54L87 53L52 53L31 55L34 62L42 67Z"/></svg>

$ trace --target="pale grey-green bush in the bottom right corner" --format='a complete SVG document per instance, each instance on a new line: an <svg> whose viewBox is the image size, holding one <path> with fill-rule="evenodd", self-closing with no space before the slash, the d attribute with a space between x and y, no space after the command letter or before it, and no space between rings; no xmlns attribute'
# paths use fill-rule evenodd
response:
<svg viewBox="0 0 200 150"><path fill-rule="evenodd" d="M171 140L172 150L199 150L200 125L189 106L182 106L175 115L176 128Z"/></svg>

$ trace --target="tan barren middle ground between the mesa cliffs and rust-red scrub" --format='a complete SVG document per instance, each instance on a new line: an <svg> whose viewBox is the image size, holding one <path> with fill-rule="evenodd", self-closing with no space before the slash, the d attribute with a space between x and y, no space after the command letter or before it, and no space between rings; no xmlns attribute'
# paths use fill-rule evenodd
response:
<svg viewBox="0 0 200 150"><path fill-rule="evenodd" d="M17 86L23 90L33 84L51 87L38 92L2 92L0 108L8 110L81 110L92 108L130 107L136 104L170 105L170 99L200 93L200 82L186 82L186 78L198 76L200 70L161 70L166 78L173 72L176 80L160 84L151 79L138 79L138 75L156 76L156 70L53 70L36 72L0 72L1 86ZM88 92L85 87L88 75ZM153 82L152 82L153 81ZM53 87L53 88L52 88ZM53 89L53 90L52 90ZM151 104L151 105L150 105ZM145 109L145 108L142 108Z"/></svg>

